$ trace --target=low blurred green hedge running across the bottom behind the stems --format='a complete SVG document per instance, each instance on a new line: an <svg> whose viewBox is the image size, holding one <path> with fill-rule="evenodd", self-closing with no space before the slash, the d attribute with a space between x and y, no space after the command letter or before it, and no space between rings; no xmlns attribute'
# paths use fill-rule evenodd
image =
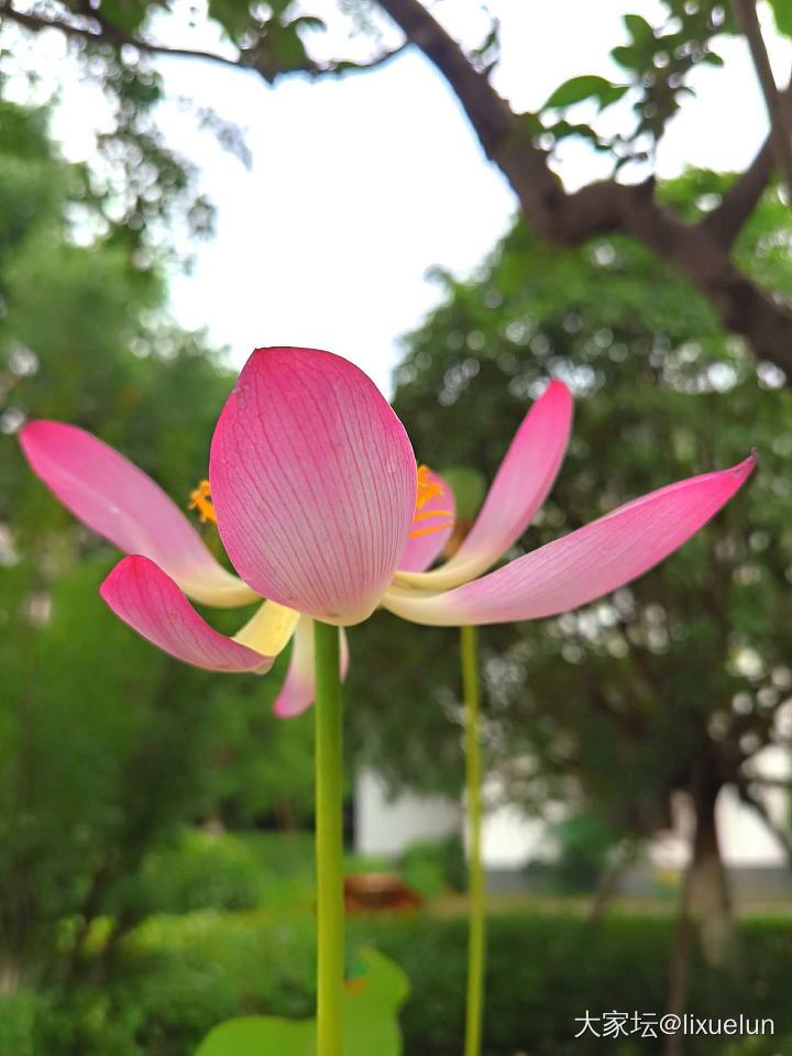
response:
<svg viewBox="0 0 792 1056"><path fill-rule="evenodd" d="M468 944L462 916L367 914L349 921L352 948L371 946L410 980L400 1014L405 1053L458 1056ZM614 913L592 927L571 913L535 906L488 922L484 1053L598 1054L602 1041L574 1040L576 1016L666 1007L673 923L662 915ZM147 922L130 936L123 971L103 988L81 987L58 1003L20 992L0 1001L0 1031L48 1056L193 1056L211 1027L231 1016L307 1019L314 1002L314 921L198 913ZM755 1050L784 1052L792 978L789 916L740 924L740 957L727 970L693 960L690 1009L701 1016L771 1018L777 1035ZM354 965L350 964L350 969ZM15 1033L11 1033L15 1032ZM780 1036L779 1036L780 1035ZM0 1034L0 1037L3 1037ZM4 1037L3 1037L4 1040ZM712 1038L690 1037L691 1056L711 1056ZM634 1052L624 1041L613 1050ZM642 1043L644 1044L644 1043ZM747 1046L747 1042L739 1043ZM376 1050L370 1049L369 1052ZM4 1053L6 1049L0 1048ZM8 1049L16 1053L15 1048ZM285 1050L284 1050L285 1052ZM719 1052L719 1049L718 1049ZM25 1054L26 1056L26 1054Z"/></svg>

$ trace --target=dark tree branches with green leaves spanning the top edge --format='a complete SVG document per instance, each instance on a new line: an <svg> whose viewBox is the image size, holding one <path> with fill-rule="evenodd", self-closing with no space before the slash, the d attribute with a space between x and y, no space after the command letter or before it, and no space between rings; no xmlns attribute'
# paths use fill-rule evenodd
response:
<svg viewBox="0 0 792 1056"><path fill-rule="evenodd" d="M752 0L739 2L752 9ZM315 62L307 54L300 31L322 23L308 15L289 21L288 6L280 0L268 6L270 13L261 16L263 21L256 21L258 16L251 21L245 9L244 24L237 24L241 12L232 12L234 18L227 12L223 18L210 6L210 14L220 18L238 47L235 58L152 43L140 35L142 18L132 29L123 29L118 19L111 20L92 8L84 16L69 12L72 18L50 19L21 12L11 0L0 0L0 19L34 32L57 29L69 36L117 50L132 45L152 55L204 58L253 69L268 82L293 73L318 77L373 69L413 45L427 56L458 96L487 157L509 180L526 221L539 238L561 245L578 245L593 237L616 232L632 237L671 263L703 294L723 327L743 336L759 361L776 364L792 380L792 311L771 292L762 289L732 256L734 242L767 189L773 170L787 170L788 158L782 154L777 122L771 143L762 145L719 206L695 222L685 222L678 212L658 201L652 178L637 185L622 184L615 178L598 180L568 193L549 166L548 151L542 146L542 132L547 130L539 117L512 110L493 88L488 77L491 64L481 53L466 55L420 0L378 0L378 7L399 26L405 42L360 64ZM642 91L636 105L639 122L635 135L657 140L668 118L678 109L680 94L690 91L684 82L690 70L702 62L722 65L721 57L712 51L711 40L721 32L736 32L736 23L721 6L700 8L691 13L684 4L669 0L669 10L676 13L678 23L681 20L681 29L674 26L673 19L661 31L656 31L637 15L625 18L632 43L615 48L613 54L632 78L632 87ZM494 34L493 47L497 28ZM612 85L604 78L575 78L561 86L546 106L563 108L594 97L602 108L618 101L628 87ZM789 98L789 90L778 92L776 89L772 96L776 114L787 108ZM561 122L557 131L568 135L580 134L582 129L587 127ZM792 172L792 147L789 136L783 138ZM612 145L615 150L615 144ZM606 150L608 143L597 141L595 146ZM636 147L627 160L645 153Z"/></svg>

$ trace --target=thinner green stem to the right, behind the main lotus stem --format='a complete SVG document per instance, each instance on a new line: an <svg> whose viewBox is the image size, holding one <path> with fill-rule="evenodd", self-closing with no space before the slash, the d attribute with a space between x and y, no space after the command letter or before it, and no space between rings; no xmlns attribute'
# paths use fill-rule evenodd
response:
<svg viewBox="0 0 792 1056"><path fill-rule="evenodd" d="M484 867L481 856L481 745L479 738L479 652L475 627L460 628L465 708L465 773L470 873L468 1010L464 1056L480 1056L484 1002Z"/></svg>

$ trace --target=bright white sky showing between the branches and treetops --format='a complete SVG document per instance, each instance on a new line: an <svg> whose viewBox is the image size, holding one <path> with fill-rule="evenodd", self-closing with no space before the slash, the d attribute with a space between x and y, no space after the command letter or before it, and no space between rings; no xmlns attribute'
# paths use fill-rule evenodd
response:
<svg viewBox="0 0 792 1056"><path fill-rule="evenodd" d="M517 109L537 108L576 74L618 80L608 51L627 41L622 14L651 21L657 11L652 0L493 0L490 7L502 20L495 85ZM433 10L471 46L483 40L479 3L444 0ZM169 35L164 26L163 37ZM211 44L206 29L194 43ZM317 43L329 54L344 52L338 36ZM662 142L661 175L685 162L741 167L766 133L747 51L738 41L721 51L726 69L697 74L698 98ZM772 43L772 51L784 78L790 50ZM415 50L371 74L283 80L275 88L255 74L200 61L163 59L160 67L174 97L191 97L246 128L253 153L248 172L177 105L163 109L169 143L201 167L202 189L218 210L217 238L198 248L194 273L173 282L179 321L208 327L238 365L256 345L328 348L387 393L398 336L437 302L427 268L469 274L516 210L440 76ZM89 143L85 108L62 113L59 134ZM569 187L605 175L584 146L570 145L562 161Z"/></svg>

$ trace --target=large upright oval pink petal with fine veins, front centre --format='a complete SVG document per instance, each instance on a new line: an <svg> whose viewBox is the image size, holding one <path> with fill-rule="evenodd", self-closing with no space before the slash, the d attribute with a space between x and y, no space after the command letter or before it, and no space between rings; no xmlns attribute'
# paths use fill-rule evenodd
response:
<svg viewBox="0 0 792 1056"><path fill-rule="evenodd" d="M407 544L416 463L361 370L315 349L256 350L220 415L209 480L245 582L326 623L372 613Z"/></svg>

